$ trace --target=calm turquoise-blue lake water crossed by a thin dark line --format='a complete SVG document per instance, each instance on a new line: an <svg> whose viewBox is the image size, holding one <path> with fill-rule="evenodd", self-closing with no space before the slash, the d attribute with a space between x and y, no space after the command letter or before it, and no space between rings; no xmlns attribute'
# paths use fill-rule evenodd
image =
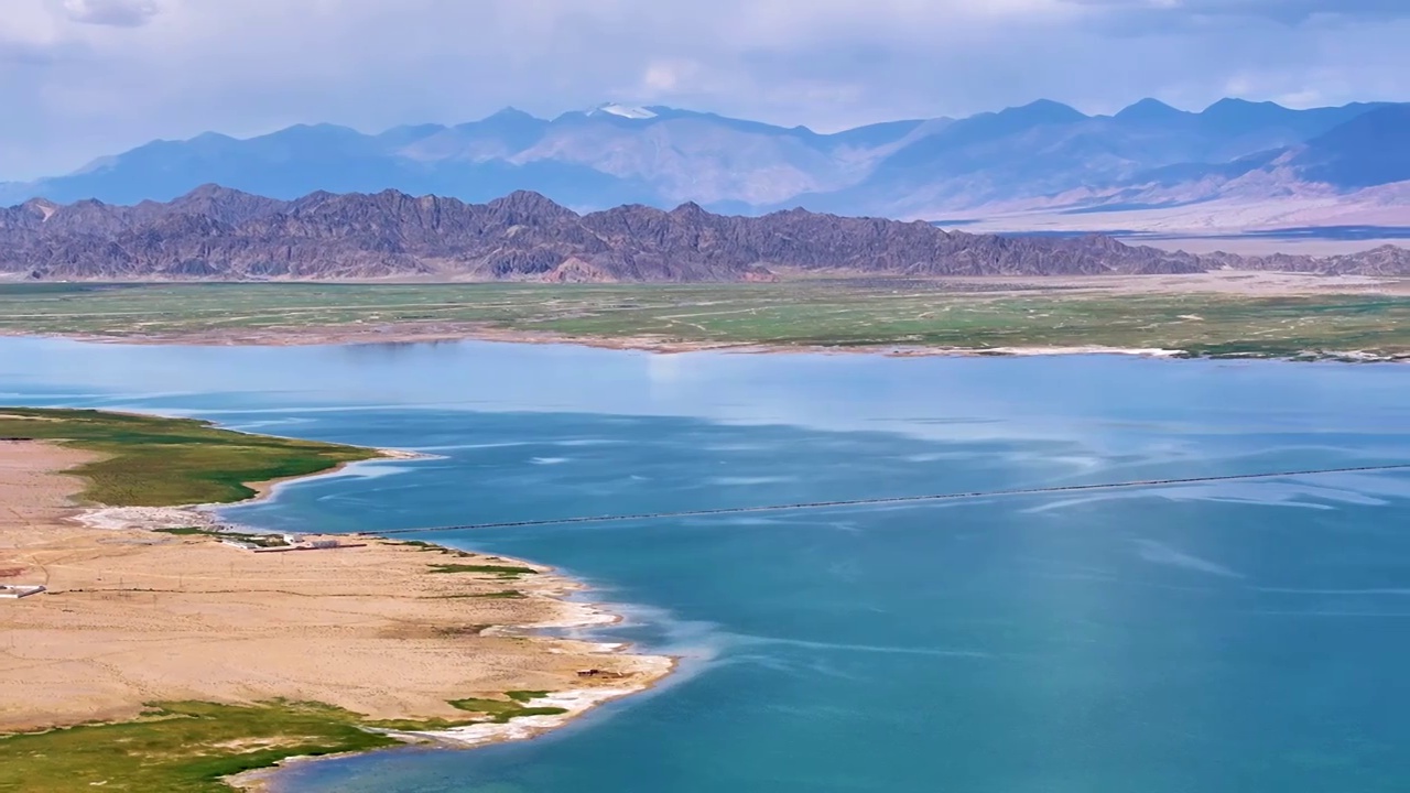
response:
<svg viewBox="0 0 1410 793"><path fill-rule="evenodd" d="M441 457L230 511L330 532L1410 463L1403 365L0 340L4 402ZM591 581L682 672L281 790L1403 793L1407 498L1366 473L424 535Z"/></svg>

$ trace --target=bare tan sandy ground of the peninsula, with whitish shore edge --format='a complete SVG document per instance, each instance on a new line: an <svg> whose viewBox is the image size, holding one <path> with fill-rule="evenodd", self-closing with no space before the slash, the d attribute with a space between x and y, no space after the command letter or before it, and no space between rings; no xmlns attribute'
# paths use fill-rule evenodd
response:
<svg viewBox="0 0 1410 793"><path fill-rule="evenodd" d="M581 587L551 570L375 538L251 553L210 536L155 533L214 521L189 508L78 509L83 483L62 471L89 459L0 442L0 583L48 587L0 601L0 732L130 720L161 700L289 698L369 718L464 720L447 700L543 690L568 710L433 737L474 745L550 730L671 669L667 658L532 635L611 619L563 600ZM539 573L434 573L433 564ZM506 591L523 597L475 597ZM582 669L605 674L581 677Z"/></svg>

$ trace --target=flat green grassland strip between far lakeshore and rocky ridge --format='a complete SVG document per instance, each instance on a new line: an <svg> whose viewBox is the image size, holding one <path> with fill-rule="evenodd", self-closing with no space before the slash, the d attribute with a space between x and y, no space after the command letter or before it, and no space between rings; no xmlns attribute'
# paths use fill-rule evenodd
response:
<svg viewBox="0 0 1410 793"><path fill-rule="evenodd" d="M1410 354L1404 295L1118 293L1032 282L1019 288L860 278L728 285L0 285L0 333L179 339L405 325L723 346Z"/></svg>

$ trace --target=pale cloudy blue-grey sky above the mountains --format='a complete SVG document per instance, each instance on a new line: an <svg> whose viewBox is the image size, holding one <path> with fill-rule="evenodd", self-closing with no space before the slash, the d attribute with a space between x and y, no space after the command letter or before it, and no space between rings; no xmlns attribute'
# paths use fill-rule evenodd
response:
<svg viewBox="0 0 1410 793"><path fill-rule="evenodd" d="M0 0L0 181L155 138L670 104L833 131L1035 99L1410 100L1410 0Z"/></svg>

